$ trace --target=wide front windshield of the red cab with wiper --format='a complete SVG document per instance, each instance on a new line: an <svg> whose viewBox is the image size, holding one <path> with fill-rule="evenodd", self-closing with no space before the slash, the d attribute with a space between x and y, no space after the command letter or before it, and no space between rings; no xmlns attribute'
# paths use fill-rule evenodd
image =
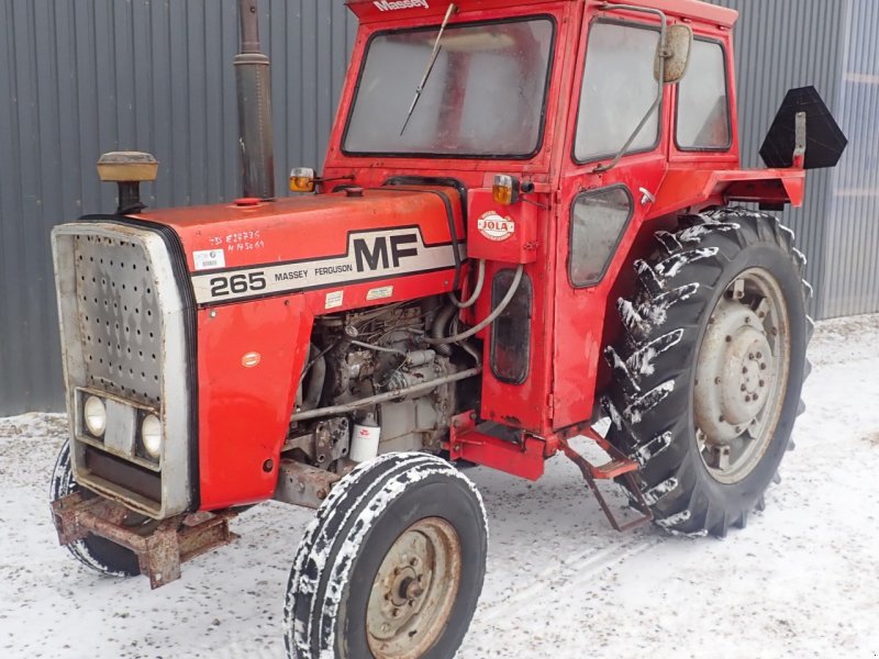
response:
<svg viewBox="0 0 879 659"><path fill-rule="evenodd" d="M348 154L528 157L541 144L552 20L449 25L412 113L438 27L386 32L367 47Z"/></svg>

